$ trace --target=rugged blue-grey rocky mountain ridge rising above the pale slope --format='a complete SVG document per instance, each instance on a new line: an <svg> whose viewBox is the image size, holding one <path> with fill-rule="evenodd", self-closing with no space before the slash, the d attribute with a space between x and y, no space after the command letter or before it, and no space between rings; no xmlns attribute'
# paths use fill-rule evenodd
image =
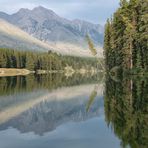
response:
<svg viewBox="0 0 148 148"><path fill-rule="evenodd" d="M35 7L32 10L21 8L18 12L11 15L0 12L0 18L18 26L40 40L57 41L55 38L46 39L43 31L48 31L47 34L51 36L52 32L54 33L54 31L60 27L61 30L64 29L67 32L71 32L72 35L74 33L77 34L76 37L81 37L81 39L88 33L95 43L100 42L100 44L102 44L103 42L103 27L101 27L101 25L79 19L68 20L42 6ZM39 33L39 31L42 32ZM99 36L102 38L99 39ZM62 34L61 37L63 38L65 36ZM98 40L96 39L97 37ZM65 38L67 39L68 37Z"/></svg>

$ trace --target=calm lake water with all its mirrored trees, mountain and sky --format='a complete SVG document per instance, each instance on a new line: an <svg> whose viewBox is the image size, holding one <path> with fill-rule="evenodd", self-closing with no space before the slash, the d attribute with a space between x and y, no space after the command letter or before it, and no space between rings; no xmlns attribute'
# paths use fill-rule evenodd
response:
<svg viewBox="0 0 148 148"><path fill-rule="evenodd" d="M147 79L0 78L0 148L147 148Z"/></svg>

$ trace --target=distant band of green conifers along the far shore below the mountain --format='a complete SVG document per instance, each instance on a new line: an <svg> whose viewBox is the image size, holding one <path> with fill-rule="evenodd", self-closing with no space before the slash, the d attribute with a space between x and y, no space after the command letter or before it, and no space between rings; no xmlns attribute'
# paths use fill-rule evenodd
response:
<svg viewBox="0 0 148 148"><path fill-rule="evenodd" d="M97 67L96 59L63 56L48 53L0 49L0 68L26 68L28 70L63 70L66 66L74 69Z"/></svg>

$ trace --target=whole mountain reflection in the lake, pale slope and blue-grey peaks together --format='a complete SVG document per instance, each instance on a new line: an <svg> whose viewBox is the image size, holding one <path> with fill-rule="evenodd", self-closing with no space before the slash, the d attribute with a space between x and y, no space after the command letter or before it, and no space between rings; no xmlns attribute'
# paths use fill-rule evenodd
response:
<svg viewBox="0 0 148 148"><path fill-rule="evenodd" d="M13 127L22 133L43 135L70 121L80 122L103 114L103 84L89 112L89 95L96 84L62 87L57 90L35 89L0 99L0 131ZM23 95L22 95L23 94Z"/></svg>

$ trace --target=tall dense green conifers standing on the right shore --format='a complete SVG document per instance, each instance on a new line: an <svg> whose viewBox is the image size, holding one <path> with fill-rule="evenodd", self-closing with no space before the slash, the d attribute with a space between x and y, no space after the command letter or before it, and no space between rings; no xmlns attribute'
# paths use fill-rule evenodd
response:
<svg viewBox="0 0 148 148"><path fill-rule="evenodd" d="M104 53L107 71L148 71L148 1L120 0L119 9L107 20Z"/></svg>

